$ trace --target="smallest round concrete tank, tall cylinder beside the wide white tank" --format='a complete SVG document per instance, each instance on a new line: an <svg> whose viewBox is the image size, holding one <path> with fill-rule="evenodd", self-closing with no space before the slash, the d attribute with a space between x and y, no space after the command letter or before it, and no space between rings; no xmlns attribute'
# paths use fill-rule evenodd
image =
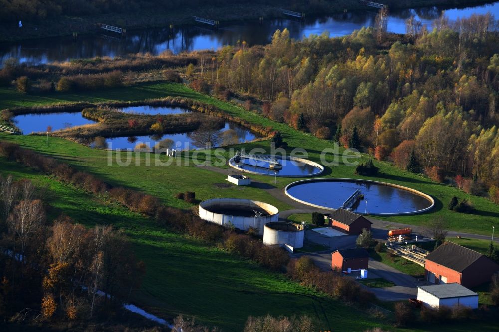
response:
<svg viewBox="0 0 499 332"><path fill-rule="evenodd" d="M263 244L285 245L298 249L303 247L305 229L303 226L292 222L269 222L263 232Z"/></svg>

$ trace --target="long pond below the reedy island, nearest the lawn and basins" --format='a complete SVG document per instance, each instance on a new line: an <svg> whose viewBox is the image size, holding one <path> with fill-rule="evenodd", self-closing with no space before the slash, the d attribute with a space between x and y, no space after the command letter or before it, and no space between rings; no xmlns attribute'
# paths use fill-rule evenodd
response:
<svg viewBox="0 0 499 332"><path fill-rule="evenodd" d="M196 131L190 133L177 133L165 135L144 135L133 137L109 137L106 138L108 149L134 149L138 144L145 143L147 147L154 147L159 141L170 139L173 141L172 148L178 150L191 150L204 148L207 136ZM217 132L211 133L212 147L219 147L231 144L252 141L262 137L249 129L232 122L226 122L224 127Z"/></svg>

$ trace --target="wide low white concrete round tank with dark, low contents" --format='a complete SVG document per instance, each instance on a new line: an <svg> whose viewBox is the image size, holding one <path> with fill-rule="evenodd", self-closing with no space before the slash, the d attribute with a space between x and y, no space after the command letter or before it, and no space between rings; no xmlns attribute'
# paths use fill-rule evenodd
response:
<svg viewBox="0 0 499 332"><path fill-rule="evenodd" d="M266 223L279 220L279 210L273 205L256 200L214 198L199 204L199 217L245 231L254 228L262 235Z"/></svg>

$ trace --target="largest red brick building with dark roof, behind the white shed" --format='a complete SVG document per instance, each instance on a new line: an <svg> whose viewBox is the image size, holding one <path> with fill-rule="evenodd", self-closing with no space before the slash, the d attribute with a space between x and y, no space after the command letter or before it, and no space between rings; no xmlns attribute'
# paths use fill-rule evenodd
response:
<svg viewBox="0 0 499 332"><path fill-rule="evenodd" d="M499 265L479 252L444 242L425 258L425 278L434 284L475 287L491 281Z"/></svg>

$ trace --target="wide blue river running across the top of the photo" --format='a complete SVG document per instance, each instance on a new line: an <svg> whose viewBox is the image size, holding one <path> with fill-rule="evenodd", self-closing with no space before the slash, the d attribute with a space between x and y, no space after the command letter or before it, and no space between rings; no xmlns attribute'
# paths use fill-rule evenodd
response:
<svg viewBox="0 0 499 332"><path fill-rule="evenodd" d="M491 12L499 16L499 2L460 9L423 7L394 10L390 12L388 30L405 33L405 20L412 15L427 24L446 15L451 21L458 17ZM78 37L52 37L0 45L0 65L8 58L19 62L41 64L96 56L115 57L128 53L160 54L166 50L180 53L188 50L218 49L224 45L235 45L246 41L248 45L266 44L277 29L287 28L292 38L301 39L311 34L329 32L330 36L350 34L363 26L372 26L376 9L366 6L364 11L349 12L323 17L307 17L304 21L292 19L267 19L260 22L247 21L238 24L223 24L218 29L205 26L181 26L170 29L149 28L130 30L121 37L113 32L83 35Z"/></svg>

